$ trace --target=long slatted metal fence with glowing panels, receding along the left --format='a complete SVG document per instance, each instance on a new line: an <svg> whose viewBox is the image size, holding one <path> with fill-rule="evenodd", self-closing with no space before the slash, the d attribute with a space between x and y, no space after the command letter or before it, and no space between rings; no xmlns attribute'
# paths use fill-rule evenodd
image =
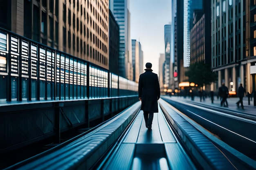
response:
<svg viewBox="0 0 256 170"><path fill-rule="evenodd" d="M85 99L137 93L137 83L105 68L6 32L0 32L0 86L0 101Z"/></svg>

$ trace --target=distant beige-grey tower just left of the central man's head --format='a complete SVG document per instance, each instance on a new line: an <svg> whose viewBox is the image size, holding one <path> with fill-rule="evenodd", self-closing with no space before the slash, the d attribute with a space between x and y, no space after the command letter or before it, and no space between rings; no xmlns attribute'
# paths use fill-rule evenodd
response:
<svg viewBox="0 0 256 170"><path fill-rule="evenodd" d="M139 82L139 75L143 73L143 51L137 40L132 40L132 68L134 82Z"/></svg>

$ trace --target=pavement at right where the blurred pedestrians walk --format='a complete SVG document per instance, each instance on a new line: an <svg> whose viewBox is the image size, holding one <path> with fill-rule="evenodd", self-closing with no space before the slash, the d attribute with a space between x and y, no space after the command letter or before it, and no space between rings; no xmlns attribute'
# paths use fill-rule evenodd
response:
<svg viewBox="0 0 256 170"><path fill-rule="evenodd" d="M200 104L207 104L210 106L214 106L214 107L218 107L218 108L223 108L223 109L229 109L229 110L233 110L233 111L239 111L239 112L243 112L243 113L249 113L252 115L256 116L256 106L254 106L254 99L252 98L252 100L250 99L250 105L248 105L248 97L243 97L243 104L244 104L244 109L241 108L241 104L239 105L239 108L236 105L236 102L238 102L239 98L238 97L229 97L227 98L227 102L229 107L223 107L220 106L220 98L217 99L216 96L214 96L214 100L213 100L213 104L211 103L211 98L207 97L204 99L204 101L202 100L202 102L200 102L200 97L194 97L194 100L191 100L191 97L177 97L177 96L171 96L171 99L175 99L175 100L182 100L182 101L189 101L189 102L198 102Z"/></svg>

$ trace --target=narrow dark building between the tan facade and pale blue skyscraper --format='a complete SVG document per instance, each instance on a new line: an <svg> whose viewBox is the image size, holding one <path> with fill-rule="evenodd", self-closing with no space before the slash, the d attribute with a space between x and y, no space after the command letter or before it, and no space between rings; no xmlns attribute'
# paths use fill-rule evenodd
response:
<svg viewBox="0 0 256 170"><path fill-rule="evenodd" d="M119 25L109 10L109 71L118 75Z"/></svg>

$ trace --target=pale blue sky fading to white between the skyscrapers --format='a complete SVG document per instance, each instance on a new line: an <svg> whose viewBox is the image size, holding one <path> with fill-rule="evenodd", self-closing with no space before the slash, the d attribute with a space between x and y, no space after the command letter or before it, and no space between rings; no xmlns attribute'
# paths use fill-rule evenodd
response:
<svg viewBox="0 0 256 170"><path fill-rule="evenodd" d="M130 0L131 39L140 42L144 67L152 63L159 74L159 57L164 53L164 25L171 22L171 0Z"/></svg>

